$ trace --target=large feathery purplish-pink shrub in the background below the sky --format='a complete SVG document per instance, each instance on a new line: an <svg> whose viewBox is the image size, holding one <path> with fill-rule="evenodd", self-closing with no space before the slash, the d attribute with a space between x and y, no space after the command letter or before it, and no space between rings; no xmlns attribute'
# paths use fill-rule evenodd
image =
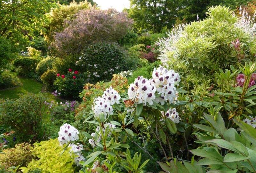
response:
<svg viewBox="0 0 256 173"><path fill-rule="evenodd" d="M63 32L56 33L53 46L60 54L79 54L94 41L116 42L127 33L132 20L125 12L114 9L81 10L72 21L66 21Z"/></svg>

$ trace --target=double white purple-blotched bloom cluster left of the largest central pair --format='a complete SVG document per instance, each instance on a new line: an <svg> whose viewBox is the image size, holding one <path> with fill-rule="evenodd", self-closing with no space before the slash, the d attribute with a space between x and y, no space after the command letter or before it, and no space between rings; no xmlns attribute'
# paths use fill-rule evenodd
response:
<svg viewBox="0 0 256 173"><path fill-rule="evenodd" d="M106 118L108 115L113 115L113 107L115 103L119 104L120 95L116 90L112 87L109 87L104 91L102 97L98 97L94 101L94 107L92 106L92 110L94 111L94 116L99 117L100 113L104 113Z"/></svg>

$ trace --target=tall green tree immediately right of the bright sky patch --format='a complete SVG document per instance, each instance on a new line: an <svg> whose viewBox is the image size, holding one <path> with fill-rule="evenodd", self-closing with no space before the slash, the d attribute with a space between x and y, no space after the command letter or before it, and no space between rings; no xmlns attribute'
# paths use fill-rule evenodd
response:
<svg viewBox="0 0 256 173"><path fill-rule="evenodd" d="M130 0L129 17L137 32L160 32L171 28L177 19L178 0Z"/></svg>

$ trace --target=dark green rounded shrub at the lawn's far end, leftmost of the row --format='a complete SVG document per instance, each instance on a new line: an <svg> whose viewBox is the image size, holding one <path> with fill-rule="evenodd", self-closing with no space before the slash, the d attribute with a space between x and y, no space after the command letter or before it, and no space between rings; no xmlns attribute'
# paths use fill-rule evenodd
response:
<svg viewBox="0 0 256 173"><path fill-rule="evenodd" d="M16 72L20 76L33 77L36 73L38 60L31 57L19 57L13 61Z"/></svg>

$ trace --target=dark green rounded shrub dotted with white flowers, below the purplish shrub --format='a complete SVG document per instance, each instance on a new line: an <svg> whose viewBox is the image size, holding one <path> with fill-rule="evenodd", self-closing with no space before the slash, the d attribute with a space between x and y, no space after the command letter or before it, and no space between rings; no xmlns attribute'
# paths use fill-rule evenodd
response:
<svg viewBox="0 0 256 173"><path fill-rule="evenodd" d="M113 74L125 70L124 52L116 43L92 43L84 49L78 64L88 72L91 83L110 80Z"/></svg>

